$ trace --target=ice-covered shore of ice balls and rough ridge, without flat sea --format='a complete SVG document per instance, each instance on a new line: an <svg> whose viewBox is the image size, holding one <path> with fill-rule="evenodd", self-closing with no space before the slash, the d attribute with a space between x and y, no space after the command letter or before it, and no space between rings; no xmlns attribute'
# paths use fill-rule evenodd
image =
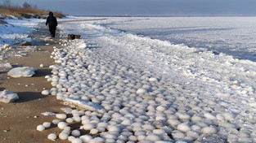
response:
<svg viewBox="0 0 256 143"><path fill-rule="evenodd" d="M74 110L60 124L63 140L192 142L209 134L223 142L256 140L254 62L139 37L99 22L79 24L72 31L83 28L82 36L89 37L64 40L63 48L55 48L57 64L53 76L47 76L54 86L50 93L104 110ZM63 37L70 25L61 25ZM81 48L84 41L88 46ZM90 134L73 134L69 124L74 122Z"/></svg>

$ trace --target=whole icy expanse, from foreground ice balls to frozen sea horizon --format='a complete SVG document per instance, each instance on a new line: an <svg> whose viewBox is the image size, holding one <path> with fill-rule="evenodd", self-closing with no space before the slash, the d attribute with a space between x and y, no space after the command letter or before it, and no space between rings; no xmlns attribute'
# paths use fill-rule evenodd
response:
<svg viewBox="0 0 256 143"><path fill-rule="evenodd" d="M72 142L255 142L254 23L107 17L59 24L64 40L46 76L53 87L42 93L86 110L56 115L63 121L53 122L63 129L57 135ZM70 33L82 39L66 40ZM65 128L74 122L90 133Z"/></svg>

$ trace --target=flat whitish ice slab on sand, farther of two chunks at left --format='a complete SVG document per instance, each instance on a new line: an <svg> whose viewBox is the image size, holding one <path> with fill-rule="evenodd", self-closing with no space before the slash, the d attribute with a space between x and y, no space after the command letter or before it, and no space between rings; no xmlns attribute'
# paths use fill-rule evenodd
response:
<svg viewBox="0 0 256 143"><path fill-rule="evenodd" d="M8 76L17 77L31 77L35 74L38 69L35 67L16 67L12 68L11 71L7 72Z"/></svg>

